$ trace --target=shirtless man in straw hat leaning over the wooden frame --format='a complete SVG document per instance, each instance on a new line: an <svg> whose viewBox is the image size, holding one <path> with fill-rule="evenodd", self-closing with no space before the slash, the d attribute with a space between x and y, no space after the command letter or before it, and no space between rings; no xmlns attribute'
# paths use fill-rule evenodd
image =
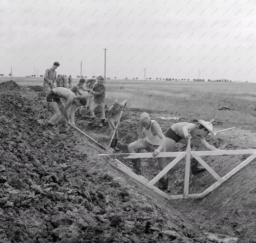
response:
<svg viewBox="0 0 256 243"><path fill-rule="evenodd" d="M173 124L166 131L166 152L173 152L177 142L187 144L188 137L191 138L191 145L196 146L196 151L203 151L204 147L208 150L220 150L208 144L205 137L208 133L216 135L211 121L198 120L199 126L190 122L178 122ZM191 172L193 175L205 171L204 167L199 167L195 158L191 158Z"/></svg>

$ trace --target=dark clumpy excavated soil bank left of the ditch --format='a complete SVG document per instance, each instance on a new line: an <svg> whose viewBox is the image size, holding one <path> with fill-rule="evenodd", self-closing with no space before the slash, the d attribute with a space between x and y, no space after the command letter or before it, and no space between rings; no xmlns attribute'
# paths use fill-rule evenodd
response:
<svg viewBox="0 0 256 243"><path fill-rule="evenodd" d="M77 132L45 134L51 111L22 92L0 91L2 242L209 242L194 220L106 164Z"/></svg>

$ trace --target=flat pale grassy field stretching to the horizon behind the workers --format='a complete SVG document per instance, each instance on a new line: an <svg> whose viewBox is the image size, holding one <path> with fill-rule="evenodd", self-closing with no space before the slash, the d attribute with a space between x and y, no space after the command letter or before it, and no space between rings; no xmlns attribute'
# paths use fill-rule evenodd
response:
<svg viewBox="0 0 256 243"><path fill-rule="evenodd" d="M2 78L0 82L7 80ZM24 86L43 83L42 78L13 80ZM114 99L127 99L130 109L165 113L187 121L214 118L223 127L256 129L256 83L107 80L106 103L111 104ZM218 110L222 106L232 110Z"/></svg>

